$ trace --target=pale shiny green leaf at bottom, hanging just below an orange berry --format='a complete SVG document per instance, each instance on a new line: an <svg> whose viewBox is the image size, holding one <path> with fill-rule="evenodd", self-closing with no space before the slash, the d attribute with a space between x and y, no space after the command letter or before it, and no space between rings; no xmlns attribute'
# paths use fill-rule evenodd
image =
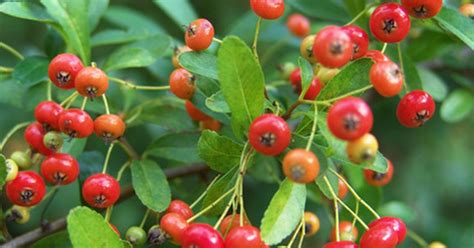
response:
<svg viewBox="0 0 474 248"><path fill-rule="evenodd" d="M306 186L285 179L273 196L262 219L261 235L265 244L276 245L300 223L306 202Z"/></svg>

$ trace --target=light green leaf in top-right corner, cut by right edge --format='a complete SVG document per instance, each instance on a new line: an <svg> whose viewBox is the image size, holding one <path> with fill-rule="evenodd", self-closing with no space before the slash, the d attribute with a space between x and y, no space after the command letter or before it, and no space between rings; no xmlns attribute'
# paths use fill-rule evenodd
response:
<svg viewBox="0 0 474 248"><path fill-rule="evenodd" d="M443 7L434 20L474 49L474 26L470 18L462 15L458 10Z"/></svg>

